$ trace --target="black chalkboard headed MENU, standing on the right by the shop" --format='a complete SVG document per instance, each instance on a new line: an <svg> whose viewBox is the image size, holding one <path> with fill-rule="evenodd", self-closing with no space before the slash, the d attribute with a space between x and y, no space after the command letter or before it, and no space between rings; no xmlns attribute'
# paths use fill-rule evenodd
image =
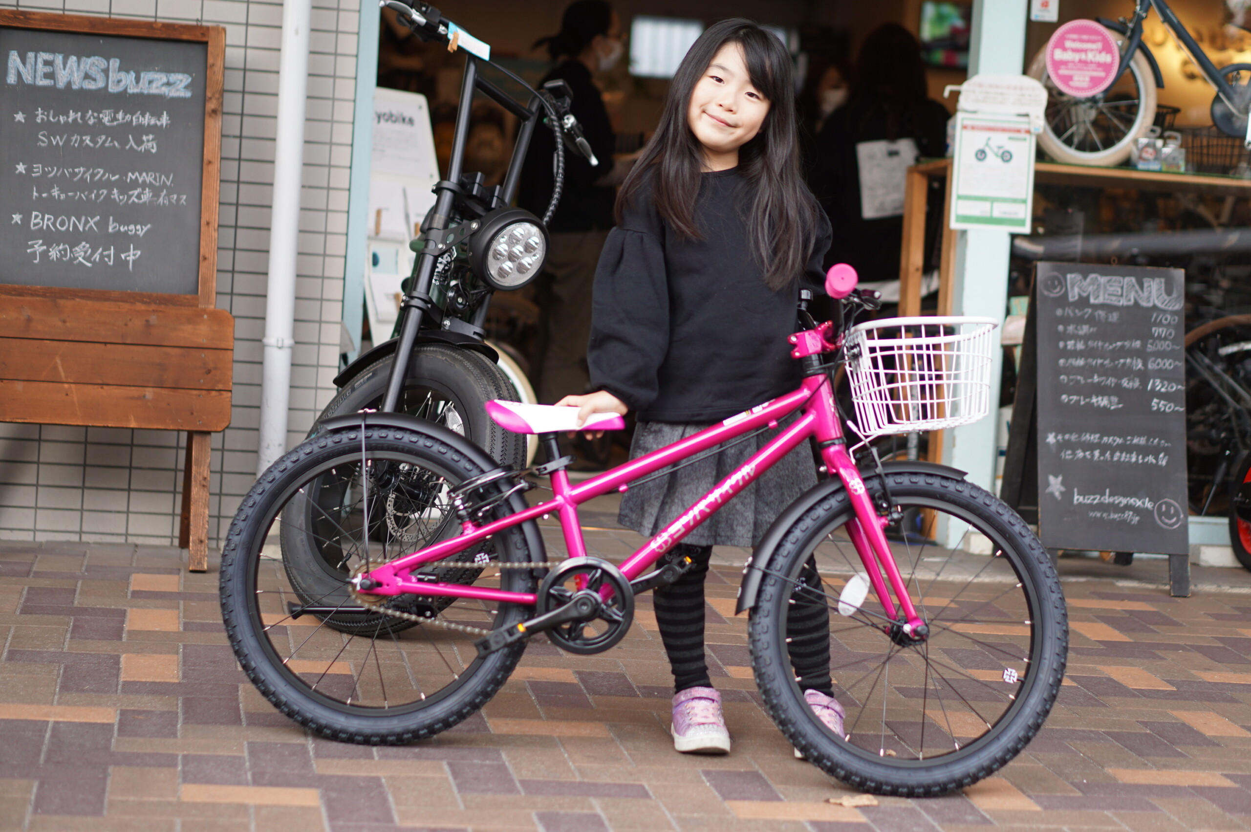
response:
<svg viewBox="0 0 1251 832"><path fill-rule="evenodd" d="M1043 545L1186 554L1183 273L1040 263Z"/></svg>

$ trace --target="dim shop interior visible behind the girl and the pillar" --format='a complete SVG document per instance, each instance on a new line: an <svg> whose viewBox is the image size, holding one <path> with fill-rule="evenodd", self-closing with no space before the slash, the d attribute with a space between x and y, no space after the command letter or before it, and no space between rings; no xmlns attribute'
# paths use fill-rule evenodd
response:
<svg viewBox="0 0 1251 832"><path fill-rule="evenodd" d="M535 83L552 68L552 63L534 44L559 28L565 5L565 0L532 4L449 0L440 8L490 43L495 60ZM1251 31L1230 25L1230 4L1171 0L1170 6L1216 66L1245 61L1251 71ZM778 36L787 43L799 78L801 118L807 120L808 129L812 129L814 119L819 119L814 113L819 89L852 81L861 45L869 33L883 24L898 24L918 38L928 96L948 113L955 113L956 96L945 98L943 89L966 78L972 23L968 3L779 0L762 6L737 0L676 0L667 4L619 0L613 8L626 36L626 55L613 69L598 73L594 81L603 93L620 154L637 150L649 136L668 88L668 76L672 76L686 45L702 26L727 16L753 18L776 28ZM1060 4L1057 23L1028 24L1027 64L1060 24L1083 18L1116 20L1132 11L1132 0L1065 0ZM427 98L434 145L443 168L463 64L444 49L418 44L413 39L400 41L398 34L398 28L384 13L379 86L420 93ZM1046 238L1065 238L1068 243L1063 256L1075 261L1185 269L1185 328L1192 332L1220 322L1201 349L1211 353L1212 360L1238 388L1232 392L1232 399L1213 394L1211 385L1187 392L1190 513L1225 517L1235 497L1226 483L1235 477L1241 482L1246 472L1233 469L1238 460L1251 458L1247 457L1251 450L1251 418L1246 415L1251 410L1251 349L1227 349L1251 344L1251 318L1228 320L1231 315L1251 313L1251 235L1246 234L1251 229L1251 201L1247 198L1251 195L1251 160L1241 140L1212 126L1212 88L1157 14L1148 16L1143 41L1153 53L1163 80L1157 91L1155 125L1161 134L1177 136L1176 140L1186 149L1187 174L1207 179L1176 189L1158 183L1150 186L1132 180L1122 183L1115 178L1105 178L1097 185L1063 178L1040 179L1033 200L1033 233L1015 238L1005 314L1023 317L1033 263L1040 259L1038 251L1047 246ZM1028 66L1022 70L1028 70ZM494 184L507 168L515 125L507 113L485 100L475 105L472 124L467 169L483 171L485 184ZM1047 160L1042 151L1038 159ZM1128 164L1122 163L1108 170L1127 170ZM934 180L926 216L923 271L927 276L936 275L941 266L943 193L942 181ZM1162 236L1166 234L1171 236ZM1147 240L1153 243L1148 245ZM1055 244L1052 240L1048 250L1055 251ZM831 254L837 256L837 253ZM1047 256L1055 259L1050 254ZM928 282L924 287L927 293L922 309L932 312L936 308L933 292ZM894 312L892 305L883 309L883 314ZM488 337L508 352L523 372L530 369L539 314L533 287L515 293L498 293L493 299ZM383 333L379 340L387 335L389 333ZM1013 402L1021 352L1011 344L1007 350L1001 388L1003 407ZM917 449L913 448L912 453ZM924 455L924 438L919 453ZM1246 543L1251 548L1251 527Z"/></svg>

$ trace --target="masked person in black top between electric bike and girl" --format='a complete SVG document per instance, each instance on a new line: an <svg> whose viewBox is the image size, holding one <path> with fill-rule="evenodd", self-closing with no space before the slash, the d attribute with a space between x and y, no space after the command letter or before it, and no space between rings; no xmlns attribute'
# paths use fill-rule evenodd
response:
<svg viewBox="0 0 1251 832"><path fill-rule="evenodd" d="M615 138L599 89L597 71L608 71L624 51L620 20L604 0L577 0L564 10L560 31L534 44L545 45L560 61L542 83L563 79L573 93L570 110L599 164L580 154L564 155L564 191L548 223L550 249L539 282L542 310L533 367L539 402L587 392L587 342L590 338L590 287L599 251L613 226ZM540 83L540 84L542 84ZM534 130L522 170L518 203L543 216L552 198L553 139L545 125ZM619 168L619 166L618 166Z"/></svg>

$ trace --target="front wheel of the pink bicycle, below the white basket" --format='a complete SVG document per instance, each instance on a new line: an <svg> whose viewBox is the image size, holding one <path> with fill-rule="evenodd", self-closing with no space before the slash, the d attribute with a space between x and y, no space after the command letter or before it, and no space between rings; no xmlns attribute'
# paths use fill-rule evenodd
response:
<svg viewBox="0 0 1251 832"><path fill-rule="evenodd" d="M1005 766L1042 727L1065 673L1067 614L1046 550L1001 500L937 474L886 480L902 512L887 537L928 637L909 638L872 589L859 601L864 566L839 492L764 566L752 661L769 716L808 761L868 792L942 794ZM838 733L804 698L827 684L844 711Z"/></svg>

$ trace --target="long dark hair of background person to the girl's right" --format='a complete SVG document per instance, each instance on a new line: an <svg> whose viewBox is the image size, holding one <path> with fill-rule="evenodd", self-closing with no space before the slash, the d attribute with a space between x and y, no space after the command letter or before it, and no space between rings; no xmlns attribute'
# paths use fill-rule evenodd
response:
<svg viewBox="0 0 1251 832"><path fill-rule="evenodd" d="M886 138L918 135L921 108L929 91L921 44L899 24L882 24L869 33L856 61L856 75L847 96L847 118L863 130L884 111Z"/></svg>

